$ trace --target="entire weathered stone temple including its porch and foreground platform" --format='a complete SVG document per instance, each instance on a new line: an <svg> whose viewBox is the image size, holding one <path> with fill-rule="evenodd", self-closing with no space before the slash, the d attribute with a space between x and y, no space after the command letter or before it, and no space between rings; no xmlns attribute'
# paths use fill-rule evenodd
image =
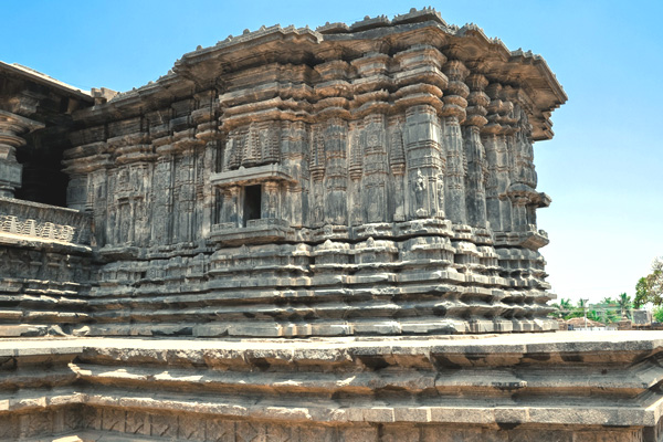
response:
<svg viewBox="0 0 663 442"><path fill-rule="evenodd" d="M547 317L566 99L430 8L126 93L0 63L0 438L660 441L661 341Z"/></svg>

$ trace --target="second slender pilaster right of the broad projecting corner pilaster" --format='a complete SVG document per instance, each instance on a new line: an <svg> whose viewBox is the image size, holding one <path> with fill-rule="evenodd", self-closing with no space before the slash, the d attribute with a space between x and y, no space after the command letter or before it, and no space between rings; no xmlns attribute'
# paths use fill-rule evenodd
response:
<svg viewBox="0 0 663 442"><path fill-rule="evenodd" d="M486 191L487 177L484 147L481 141L481 128L487 123L486 108L491 99L484 92L488 81L481 74L467 77L470 95L467 96L467 118L464 122L465 154L467 156L467 179L465 197L467 203L467 223L475 228L485 229L486 220Z"/></svg>

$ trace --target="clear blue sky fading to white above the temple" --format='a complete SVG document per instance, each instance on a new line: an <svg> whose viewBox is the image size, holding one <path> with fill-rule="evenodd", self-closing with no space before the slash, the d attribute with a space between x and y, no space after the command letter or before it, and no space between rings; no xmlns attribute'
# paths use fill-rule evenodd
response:
<svg viewBox="0 0 663 442"><path fill-rule="evenodd" d="M663 255L662 1L45 1L4 0L0 60L83 90L127 91L183 53L262 24L316 28L433 6L512 49L541 54L569 96L556 136L535 145L538 225L559 297L634 294ZM661 126L660 126L661 125Z"/></svg>

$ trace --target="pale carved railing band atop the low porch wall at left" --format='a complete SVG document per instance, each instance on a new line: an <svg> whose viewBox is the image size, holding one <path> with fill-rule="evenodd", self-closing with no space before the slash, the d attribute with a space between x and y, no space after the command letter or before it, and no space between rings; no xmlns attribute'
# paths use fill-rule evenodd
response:
<svg viewBox="0 0 663 442"><path fill-rule="evenodd" d="M74 209L0 198L0 233L90 245L91 218Z"/></svg>

